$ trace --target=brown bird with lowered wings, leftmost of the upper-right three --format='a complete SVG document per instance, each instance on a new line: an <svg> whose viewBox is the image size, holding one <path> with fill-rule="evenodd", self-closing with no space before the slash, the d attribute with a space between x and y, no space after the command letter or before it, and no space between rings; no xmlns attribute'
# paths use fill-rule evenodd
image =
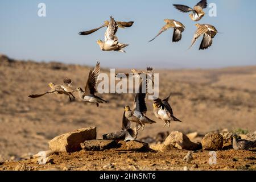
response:
<svg viewBox="0 0 256 182"><path fill-rule="evenodd" d="M157 38L160 34L168 30L169 28L174 28L174 35L172 36L172 42L179 42L181 40L181 33L185 30L185 26L174 19L164 19L164 22L166 22L166 25L161 28L158 35L156 35L152 40ZM150 40L149 42L151 42L152 40Z"/></svg>

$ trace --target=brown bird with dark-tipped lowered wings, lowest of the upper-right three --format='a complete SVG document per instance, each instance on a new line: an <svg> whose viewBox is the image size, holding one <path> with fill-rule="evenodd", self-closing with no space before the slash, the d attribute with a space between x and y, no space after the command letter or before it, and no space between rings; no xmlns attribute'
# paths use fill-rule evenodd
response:
<svg viewBox="0 0 256 182"><path fill-rule="evenodd" d="M204 35L204 38L200 44L199 50L207 49L208 47L212 46L213 38L218 33L216 28L210 24L195 24L197 30L192 40L192 44L189 49L195 44L196 40L200 38L201 35Z"/></svg>

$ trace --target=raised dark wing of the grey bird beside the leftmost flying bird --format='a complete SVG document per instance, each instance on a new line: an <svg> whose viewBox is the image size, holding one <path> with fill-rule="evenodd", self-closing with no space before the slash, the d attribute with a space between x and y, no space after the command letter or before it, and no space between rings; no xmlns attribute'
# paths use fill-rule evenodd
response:
<svg viewBox="0 0 256 182"><path fill-rule="evenodd" d="M85 85L85 91L84 91L84 95L90 93L90 94L94 94L97 92L96 89L96 85L97 85L97 81L98 81L98 75L100 75L100 63L97 62L96 66L94 69L91 69L89 72L89 76Z"/></svg>

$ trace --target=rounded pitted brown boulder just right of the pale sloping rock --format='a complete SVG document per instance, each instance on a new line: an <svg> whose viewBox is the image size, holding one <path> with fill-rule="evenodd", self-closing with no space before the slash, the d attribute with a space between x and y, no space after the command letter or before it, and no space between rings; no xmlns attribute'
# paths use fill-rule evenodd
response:
<svg viewBox="0 0 256 182"><path fill-rule="evenodd" d="M220 133L208 133L202 140L203 150L221 150L223 137Z"/></svg>

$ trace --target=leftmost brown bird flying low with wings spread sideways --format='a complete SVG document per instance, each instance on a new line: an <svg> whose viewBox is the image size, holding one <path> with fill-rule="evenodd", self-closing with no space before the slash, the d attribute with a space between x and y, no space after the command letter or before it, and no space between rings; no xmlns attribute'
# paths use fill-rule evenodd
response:
<svg viewBox="0 0 256 182"><path fill-rule="evenodd" d="M72 94L73 92L75 92L75 90L73 90L73 87L72 87L72 80L70 78L65 78L63 82L64 84L58 84L58 85L56 85L53 82L50 82L48 85L49 87L51 87L51 90L43 94L30 94L28 97L38 98L38 97L44 96L45 94L55 93L55 94L67 95L69 97L69 101L75 100L75 96L73 96ZM71 96L73 98L71 98Z"/></svg>

